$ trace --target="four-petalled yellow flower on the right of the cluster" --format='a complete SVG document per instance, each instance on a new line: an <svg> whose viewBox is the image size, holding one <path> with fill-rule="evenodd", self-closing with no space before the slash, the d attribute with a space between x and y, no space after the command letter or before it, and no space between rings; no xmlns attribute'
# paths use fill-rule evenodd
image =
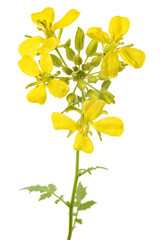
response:
<svg viewBox="0 0 160 240"><path fill-rule="evenodd" d="M136 48L122 47L120 41L128 32L130 27L129 19L126 17L115 16L109 24L109 33L103 32L101 28L92 27L87 31L88 37L97 42L107 44L106 55L101 63L102 74L108 78L115 78L118 75L118 68L121 66L118 54L128 65L134 68L141 68L145 61L145 53Z"/></svg>

